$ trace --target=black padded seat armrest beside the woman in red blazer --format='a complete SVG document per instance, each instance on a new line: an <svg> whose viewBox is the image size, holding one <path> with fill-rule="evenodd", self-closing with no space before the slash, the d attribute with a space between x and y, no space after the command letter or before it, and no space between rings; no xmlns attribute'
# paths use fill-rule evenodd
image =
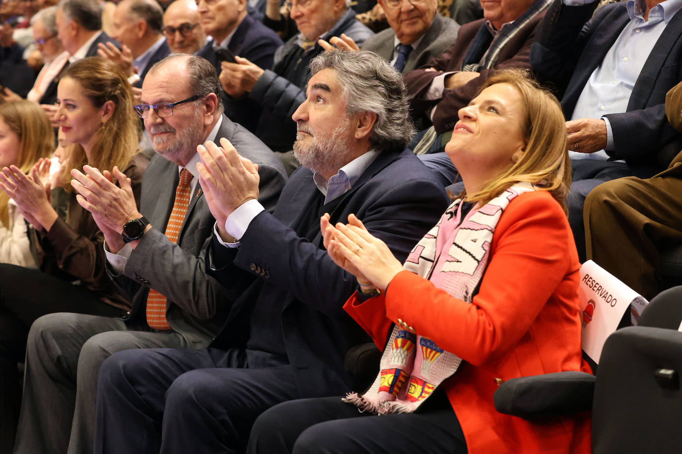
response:
<svg viewBox="0 0 682 454"><path fill-rule="evenodd" d="M595 376L566 371L511 378L494 393L495 409L526 419L592 409Z"/></svg>

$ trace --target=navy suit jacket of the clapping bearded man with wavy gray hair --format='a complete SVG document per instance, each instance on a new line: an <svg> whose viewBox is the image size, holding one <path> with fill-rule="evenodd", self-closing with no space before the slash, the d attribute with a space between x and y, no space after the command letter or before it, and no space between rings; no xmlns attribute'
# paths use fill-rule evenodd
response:
<svg viewBox="0 0 682 454"><path fill-rule="evenodd" d="M329 212L332 223L345 223L349 214L357 214L403 261L448 204L436 176L410 150L382 152L350 191L311 213L311 206L317 206L312 203L316 193L312 172L299 167L284 186L273 214L258 214L239 248L226 248L215 238L211 244L213 276L235 301L211 346L243 348L251 310L258 297L261 302L266 297L282 308L278 336L284 338L303 398L348 391L344 356L351 346L368 340L342 310L357 284L327 255L319 217ZM301 238L297 231L310 232L309 238L314 238ZM235 267L258 277L243 293L233 290L239 288Z"/></svg>

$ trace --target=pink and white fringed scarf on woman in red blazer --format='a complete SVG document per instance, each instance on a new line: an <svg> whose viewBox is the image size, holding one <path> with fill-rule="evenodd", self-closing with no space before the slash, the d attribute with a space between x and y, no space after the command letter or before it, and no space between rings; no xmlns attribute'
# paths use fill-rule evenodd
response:
<svg viewBox="0 0 682 454"><path fill-rule="evenodd" d="M473 208L464 218L462 199L457 199L413 248L403 268L471 303L486 270L492 236L503 210L514 197L529 191L534 191L530 183L514 184L488 204ZM413 412L457 371L461 361L433 340L396 325L370 389L364 395L349 393L344 401L379 415Z"/></svg>

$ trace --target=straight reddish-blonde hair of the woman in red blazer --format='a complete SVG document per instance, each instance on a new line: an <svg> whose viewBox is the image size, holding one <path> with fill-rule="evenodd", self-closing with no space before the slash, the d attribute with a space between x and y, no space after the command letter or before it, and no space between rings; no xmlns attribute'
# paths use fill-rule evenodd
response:
<svg viewBox="0 0 682 454"><path fill-rule="evenodd" d="M522 69L497 71L481 86L477 95L494 84L509 84L522 99L522 123L519 125L526 142L518 162L487 182L473 194L462 193L469 201L487 204L517 182L530 182L548 191L564 212L571 186L571 161L568 157L566 125L559 101Z"/></svg>

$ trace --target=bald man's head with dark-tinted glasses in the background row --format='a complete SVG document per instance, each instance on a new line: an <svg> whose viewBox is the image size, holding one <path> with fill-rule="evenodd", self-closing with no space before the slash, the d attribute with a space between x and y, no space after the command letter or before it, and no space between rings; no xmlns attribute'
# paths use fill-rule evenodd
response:
<svg viewBox="0 0 682 454"><path fill-rule="evenodd" d="M207 36L199 23L194 0L175 0L164 13L164 35L173 54L196 54L206 57L211 52L213 38Z"/></svg>

